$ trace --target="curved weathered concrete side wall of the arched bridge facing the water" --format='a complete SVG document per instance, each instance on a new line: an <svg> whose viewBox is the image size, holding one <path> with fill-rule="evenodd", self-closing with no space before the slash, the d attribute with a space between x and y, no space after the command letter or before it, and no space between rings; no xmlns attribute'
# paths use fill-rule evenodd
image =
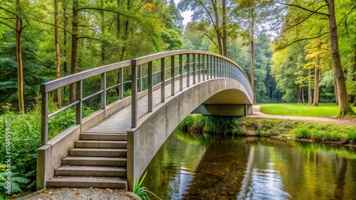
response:
<svg viewBox="0 0 356 200"><path fill-rule="evenodd" d="M239 82L233 79L212 79L184 88L175 96L169 96L164 103L155 106L152 112L137 121L137 128L132 128L127 133L127 184L130 191L133 190L135 180L140 178L152 157L178 124L199 105L221 91L236 94L231 96L235 100L243 99L243 102L234 103L252 104L248 92ZM210 103L216 104L211 99Z"/></svg>

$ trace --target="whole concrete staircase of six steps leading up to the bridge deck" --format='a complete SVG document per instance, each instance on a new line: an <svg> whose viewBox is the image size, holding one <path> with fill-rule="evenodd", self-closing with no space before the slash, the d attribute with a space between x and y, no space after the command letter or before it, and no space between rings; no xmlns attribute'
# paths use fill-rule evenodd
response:
<svg viewBox="0 0 356 200"><path fill-rule="evenodd" d="M120 132L81 133L47 187L126 188L127 134Z"/></svg>

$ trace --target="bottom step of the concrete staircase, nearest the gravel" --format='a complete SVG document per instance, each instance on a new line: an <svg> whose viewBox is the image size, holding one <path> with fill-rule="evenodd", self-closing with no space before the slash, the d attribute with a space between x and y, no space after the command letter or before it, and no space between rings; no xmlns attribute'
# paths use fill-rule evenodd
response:
<svg viewBox="0 0 356 200"><path fill-rule="evenodd" d="M53 177L46 182L46 186L127 188L127 180L122 177Z"/></svg>

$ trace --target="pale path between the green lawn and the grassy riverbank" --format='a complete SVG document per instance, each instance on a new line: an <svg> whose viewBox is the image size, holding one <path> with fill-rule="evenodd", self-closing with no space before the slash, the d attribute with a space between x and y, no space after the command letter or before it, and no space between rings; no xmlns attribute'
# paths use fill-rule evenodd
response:
<svg viewBox="0 0 356 200"><path fill-rule="evenodd" d="M338 123L342 125L356 125L356 118L333 118L333 117L305 117L305 116L273 116L261 113L261 106L253 106L253 114L248 118L281 118L304 121L318 121L325 123Z"/></svg>

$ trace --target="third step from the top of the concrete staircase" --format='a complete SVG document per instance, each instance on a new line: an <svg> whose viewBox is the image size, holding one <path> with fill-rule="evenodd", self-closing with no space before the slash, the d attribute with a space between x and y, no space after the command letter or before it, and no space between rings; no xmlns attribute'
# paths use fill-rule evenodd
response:
<svg viewBox="0 0 356 200"><path fill-rule="evenodd" d="M89 156L89 157L126 157L126 149L108 148L73 148L69 151L70 156Z"/></svg>

